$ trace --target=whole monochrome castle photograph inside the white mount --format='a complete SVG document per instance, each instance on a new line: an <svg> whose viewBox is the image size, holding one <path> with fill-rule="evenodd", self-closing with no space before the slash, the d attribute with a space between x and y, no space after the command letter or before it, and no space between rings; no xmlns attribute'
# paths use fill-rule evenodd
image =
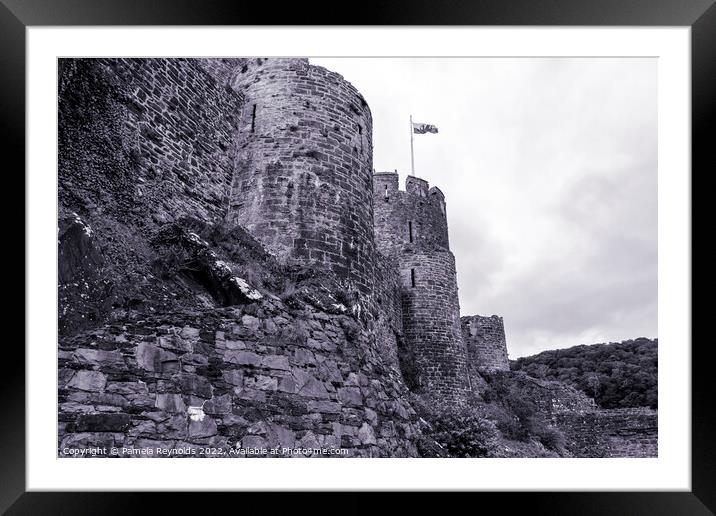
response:
<svg viewBox="0 0 716 516"><path fill-rule="evenodd" d="M660 456L657 57L56 62L58 459Z"/></svg>

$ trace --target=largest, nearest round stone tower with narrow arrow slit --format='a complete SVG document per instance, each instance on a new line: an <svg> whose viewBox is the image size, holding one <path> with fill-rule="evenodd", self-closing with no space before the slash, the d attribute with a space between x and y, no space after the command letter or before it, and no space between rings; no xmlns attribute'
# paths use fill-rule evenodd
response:
<svg viewBox="0 0 716 516"><path fill-rule="evenodd" d="M363 97L307 59L203 66L246 98L230 220L282 261L324 264L370 293L372 118Z"/></svg>

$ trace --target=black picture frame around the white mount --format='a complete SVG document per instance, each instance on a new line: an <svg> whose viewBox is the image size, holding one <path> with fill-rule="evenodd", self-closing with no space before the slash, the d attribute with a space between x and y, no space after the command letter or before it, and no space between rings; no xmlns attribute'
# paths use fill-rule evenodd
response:
<svg viewBox="0 0 716 516"><path fill-rule="evenodd" d="M280 5L280 7L279 7ZM551 26L690 26L692 45L692 179L713 169L714 145L709 138L714 123L716 97L716 6L713 0L400 0L347 4L311 2L269 4L246 1L191 0L0 0L0 126L6 148L7 175L24 177L25 166L25 28L49 25L551 25ZM323 13L323 14L318 14ZM54 114L48 113L48 120ZM707 168L707 165L710 167ZM22 172L20 172L22 171ZM696 174L700 171L700 174ZM19 181L15 188L25 191ZM9 191L6 190L6 191ZM697 192L697 190L693 190ZM17 194L15 194L17 195ZM693 206L693 204L692 204ZM19 231L19 227L16 230ZM23 241L25 236L22 235ZM16 240L18 242L18 240ZM16 248L19 248L17 244ZM24 249L24 246L23 246ZM692 256L693 247L692 247ZM23 263L27 257L24 256ZM24 265L23 265L24 266ZM693 270L693 267L692 267ZM24 299L24 295L23 298ZM19 301L17 306L24 303ZM610 493L479 493L478 500L452 500L458 507L484 504L489 498L500 510L524 507L530 514L713 514L716 511L716 446L712 414L714 386L708 339L692 345L692 491ZM8 514L126 514L148 508L148 493L25 492L25 357L19 339L5 343L5 364L0 385L3 418L0 418L0 510ZM206 508L205 496L163 493L163 511ZM241 511L272 512L283 507L309 510L365 512L376 507L371 496L350 494L332 509L324 498L310 493L276 494L211 493L211 505L236 503ZM270 498L269 498L270 496ZM462 496L462 495L460 495ZM366 499L368 498L368 499ZM472 498L472 496L471 496ZM412 503L427 507L421 494ZM406 500L407 503L407 500ZM318 504L318 506L316 505ZM491 504L492 505L492 504ZM229 505L231 507L231 505ZM405 508L404 510L408 510Z"/></svg>

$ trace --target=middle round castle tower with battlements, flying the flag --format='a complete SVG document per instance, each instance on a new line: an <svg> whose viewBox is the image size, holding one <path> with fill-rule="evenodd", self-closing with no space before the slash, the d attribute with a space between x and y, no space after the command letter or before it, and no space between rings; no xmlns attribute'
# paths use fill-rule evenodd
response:
<svg viewBox="0 0 716 516"><path fill-rule="evenodd" d="M405 191L397 184L397 172L374 175L376 248L398 261L405 344L415 359L420 390L462 400L469 390L467 350L445 198L417 177L408 176Z"/></svg>

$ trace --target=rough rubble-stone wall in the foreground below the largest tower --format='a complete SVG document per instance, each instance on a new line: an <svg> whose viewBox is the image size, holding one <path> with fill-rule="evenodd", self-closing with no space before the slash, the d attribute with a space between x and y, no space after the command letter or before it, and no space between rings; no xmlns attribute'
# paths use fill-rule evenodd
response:
<svg viewBox="0 0 716 516"><path fill-rule="evenodd" d="M146 316L61 340L59 367L60 456L89 447L417 455L400 375L346 315L263 300Z"/></svg>

